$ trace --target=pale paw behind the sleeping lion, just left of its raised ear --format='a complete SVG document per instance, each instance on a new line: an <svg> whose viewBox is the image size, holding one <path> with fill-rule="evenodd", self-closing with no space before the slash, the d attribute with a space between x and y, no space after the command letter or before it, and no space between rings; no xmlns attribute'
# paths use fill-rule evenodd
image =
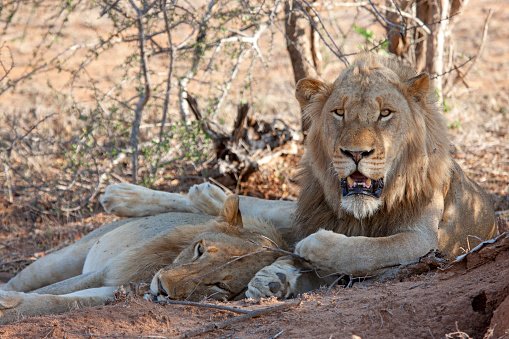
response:
<svg viewBox="0 0 509 339"><path fill-rule="evenodd" d="M227 197L222 189L209 183L195 185L187 194L193 210L209 215L219 215Z"/></svg>

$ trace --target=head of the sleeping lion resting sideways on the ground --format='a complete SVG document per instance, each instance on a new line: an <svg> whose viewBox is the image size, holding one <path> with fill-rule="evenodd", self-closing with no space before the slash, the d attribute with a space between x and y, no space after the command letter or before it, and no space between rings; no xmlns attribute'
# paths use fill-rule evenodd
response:
<svg viewBox="0 0 509 339"><path fill-rule="evenodd" d="M233 203L232 198L224 203L212 231L200 234L156 273L153 295L190 301L245 298L251 278L280 256L266 249L274 246L268 238L243 228L238 198Z"/></svg>

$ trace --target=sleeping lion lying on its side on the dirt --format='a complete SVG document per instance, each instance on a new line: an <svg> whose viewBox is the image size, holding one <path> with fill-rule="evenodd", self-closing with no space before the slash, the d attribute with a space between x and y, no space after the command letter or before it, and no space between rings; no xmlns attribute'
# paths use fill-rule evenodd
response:
<svg viewBox="0 0 509 339"><path fill-rule="evenodd" d="M229 197L217 218L167 213L102 226L0 286L0 323L101 305L130 282L151 282L154 295L171 299L244 298L254 274L281 255L267 248L285 243L238 207Z"/></svg>

